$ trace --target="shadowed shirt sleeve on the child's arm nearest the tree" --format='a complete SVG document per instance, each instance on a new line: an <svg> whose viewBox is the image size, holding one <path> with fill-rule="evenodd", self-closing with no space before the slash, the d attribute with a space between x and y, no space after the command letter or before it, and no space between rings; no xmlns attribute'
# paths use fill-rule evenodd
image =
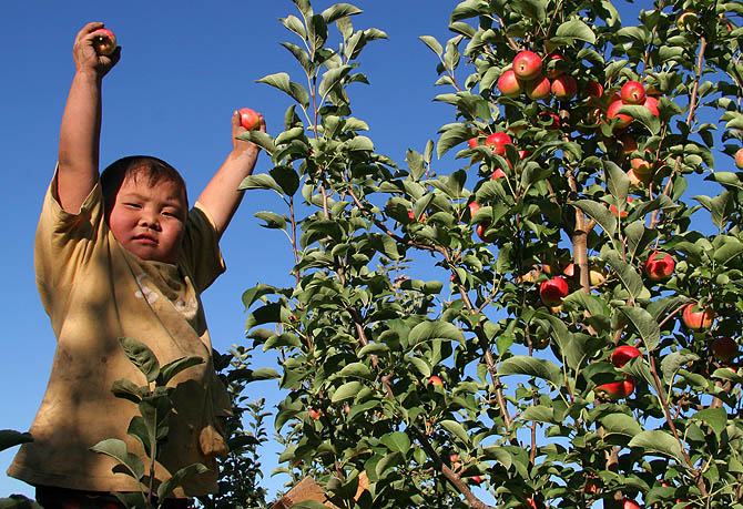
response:
<svg viewBox="0 0 743 509"><path fill-rule="evenodd" d="M186 218L180 259L192 275L199 293L208 288L226 268L214 221L199 202Z"/></svg>

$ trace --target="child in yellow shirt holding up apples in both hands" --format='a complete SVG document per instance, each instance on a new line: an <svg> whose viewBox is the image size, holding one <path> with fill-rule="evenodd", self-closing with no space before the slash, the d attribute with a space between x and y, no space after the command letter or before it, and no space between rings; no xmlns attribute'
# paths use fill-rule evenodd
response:
<svg viewBox="0 0 743 509"><path fill-rule="evenodd" d="M8 474L35 486L47 509L116 508L111 491L140 490L129 476L112 472L114 460L90 451L120 438L144 456L126 435L136 405L111 393L118 379L145 383L119 344L129 336L145 343L161 365L192 355L204 359L171 380L174 413L156 471L164 480L194 462L210 468L165 506L186 507L186 497L216 491L215 457L227 450L221 429L230 399L214 373L200 293L224 271L217 242L258 147L235 140L245 131L235 112L232 152L190 212L183 180L159 159L124 157L99 177L101 82L121 55L121 48L96 53L93 32L102 27L88 23L74 42L77 72L34 252L57 352L30 430L34 441L21 447Z"/></svg>

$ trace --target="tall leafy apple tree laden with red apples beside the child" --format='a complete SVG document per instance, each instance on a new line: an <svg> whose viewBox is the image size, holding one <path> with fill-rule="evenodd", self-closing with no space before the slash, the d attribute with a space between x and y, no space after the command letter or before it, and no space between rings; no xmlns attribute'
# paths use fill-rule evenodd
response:
<svg viewBox="0 0 743 509"><path fill-rule="evenodd" d="M284 130L244 135L295 262L244 294L279 471L343 508L743 507L743 4L462 1L420 37L450 122L397 164L350 101L385 33L294 3Z"/></svg>

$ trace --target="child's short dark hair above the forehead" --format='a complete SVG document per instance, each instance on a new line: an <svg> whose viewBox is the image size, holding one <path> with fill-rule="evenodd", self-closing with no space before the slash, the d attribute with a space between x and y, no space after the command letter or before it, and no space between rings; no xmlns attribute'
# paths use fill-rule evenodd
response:
<svg viewBox="0 0 743 509"><path fill-rule="evenodd" d="M101 191L103 192L103 201L106 203L106 206L112 206L113 196L116 195L121 189L121 184L126 179L136 180L141 175L147 177L147 184L151 186L162 180L177 185L183 191L183 200L187 207L189 195L186 193L185 181L181 174L165 161L152 155L130 155L122 157L111 163L101 172Z"/></svg>

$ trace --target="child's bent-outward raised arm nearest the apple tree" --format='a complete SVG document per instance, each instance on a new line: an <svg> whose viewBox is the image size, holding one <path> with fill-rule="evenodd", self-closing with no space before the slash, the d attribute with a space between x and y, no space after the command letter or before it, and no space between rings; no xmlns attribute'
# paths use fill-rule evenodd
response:
<svg viewBox="0 0 743 509"><path fill-rule="evenodd" d="M263 115L258 115L258 130L266 131ZM240 124L240 113L234 112L232 115L232 152L199 196L199 202L206 207L214 220L220 236L226 230L243 200L244 191L237 191L237 186L243 179L253 173L258 159L259 149L256 144L236 139L244 132L245 128Z"/></svg>

